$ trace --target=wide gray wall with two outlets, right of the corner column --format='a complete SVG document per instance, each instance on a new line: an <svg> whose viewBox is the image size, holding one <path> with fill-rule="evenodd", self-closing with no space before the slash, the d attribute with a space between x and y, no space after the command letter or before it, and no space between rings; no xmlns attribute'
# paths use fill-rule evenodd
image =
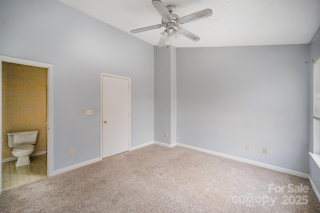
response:
<svg viewBox="0 0 320 213"><path fill-rule="evenodd" d="M307 44L178 48L178 142L307 173L308 53Z"/></svg>

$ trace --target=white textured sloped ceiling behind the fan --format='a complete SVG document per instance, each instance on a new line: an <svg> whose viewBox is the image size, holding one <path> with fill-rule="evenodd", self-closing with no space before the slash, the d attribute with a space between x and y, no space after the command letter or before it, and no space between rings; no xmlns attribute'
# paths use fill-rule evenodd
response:
<svg viewBox="0 0 320 213"><path fill-rule="evenodd" d="M161 23L151 0L59 0L126 33ZM200 37L171 41L175 47L309 43L320 26L320 0L162 0L180 17L210 8L209 17L180 26ZM165 28L131 34L157 45Z"/></svg>

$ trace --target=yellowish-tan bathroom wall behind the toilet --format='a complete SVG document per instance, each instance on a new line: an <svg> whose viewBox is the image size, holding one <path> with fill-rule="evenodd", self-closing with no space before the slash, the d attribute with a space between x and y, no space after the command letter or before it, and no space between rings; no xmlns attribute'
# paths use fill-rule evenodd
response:
<svg viewBox="0 0 320 213"><path fill-rule="evenodd" d="M47 69L2 62L2 158L12 157L8 132L38 130L35 151L46 150Z"/></svg>

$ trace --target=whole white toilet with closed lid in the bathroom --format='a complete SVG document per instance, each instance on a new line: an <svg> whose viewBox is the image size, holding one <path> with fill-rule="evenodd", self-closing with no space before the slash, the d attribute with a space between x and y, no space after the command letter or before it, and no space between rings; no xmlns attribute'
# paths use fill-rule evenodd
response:
<svg viewBox="0 0 320 213"><path fill-rule="evenodd" d="M24 131L7 133L8 146L13 147L11 153L18 157L15 167L30 164L29 155L34 151L38 131Z"/></svg>

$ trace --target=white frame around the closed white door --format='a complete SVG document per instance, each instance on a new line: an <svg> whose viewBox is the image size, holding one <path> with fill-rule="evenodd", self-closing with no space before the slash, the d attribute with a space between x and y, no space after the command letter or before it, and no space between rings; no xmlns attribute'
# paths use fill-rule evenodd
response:
<svg viewBox="0 0 320 213"><path fill-rule="evenodd" d="M122 78L122 79L128 79L129 80L129 144L128 144L128 150L130 150L131 147L131 77L126 77L126 76L121 76L121 75L115 75L115 74L108 74L104 72L100 72L100 160L103 158L103 149L102 149L102 124L103 124L103 119L102 119L102 98L103 98L103 76L107 77L117 77L117 78Z"/></svg>

